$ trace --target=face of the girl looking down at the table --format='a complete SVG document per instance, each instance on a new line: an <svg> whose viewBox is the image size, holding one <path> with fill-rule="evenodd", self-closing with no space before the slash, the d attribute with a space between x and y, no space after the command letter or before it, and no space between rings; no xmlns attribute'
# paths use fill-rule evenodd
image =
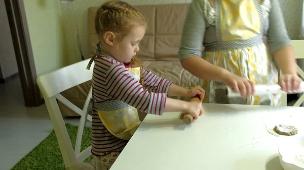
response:
<svg viewBox="0 0 304 170"><path fill-rule="evenodd" d="M114 41L111 55L116 60L123 63L129 63L139 51L139 42L145 34L145 26L133 27L121 42Z"/></svg>

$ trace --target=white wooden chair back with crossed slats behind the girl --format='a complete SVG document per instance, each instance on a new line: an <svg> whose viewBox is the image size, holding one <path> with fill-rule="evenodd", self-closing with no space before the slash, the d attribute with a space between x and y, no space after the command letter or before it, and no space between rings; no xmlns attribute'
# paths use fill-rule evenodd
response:
<svg viewBox="0 0 304 170"><path fill-rule="evenodd" d="M85 122L88 119L92 122L92 117L86 117L87 106L92 96L92 88L88 94L84 108L79 108L64 98L60 93L71 87L77 86L92 79L94 62L90 70L87 70L89 60L85 60L73 65L64 67L54 72L39 76L37 84L43 94L46 106L56 133L60 151L66 167L70 167L75 162L82 162L91 155L91 146L84 151L80 151L81 141ZM57 100L67 107L77 112L81 116L79 123L75 150L68 136L64 120L61 115Z"/></svg>

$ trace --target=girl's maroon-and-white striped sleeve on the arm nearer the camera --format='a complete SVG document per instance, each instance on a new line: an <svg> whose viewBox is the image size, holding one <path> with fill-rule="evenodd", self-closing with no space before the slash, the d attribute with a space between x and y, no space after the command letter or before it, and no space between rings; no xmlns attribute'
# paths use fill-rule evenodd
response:
<svg viewBox="0 0 304 170"><path fill-rule="evenodd" d="M113 64L107 70L106 92L113 99L121 100L140 111L155 115L163 114L167 97L166 93L154 93L143 89L122 64Z"/></svg>

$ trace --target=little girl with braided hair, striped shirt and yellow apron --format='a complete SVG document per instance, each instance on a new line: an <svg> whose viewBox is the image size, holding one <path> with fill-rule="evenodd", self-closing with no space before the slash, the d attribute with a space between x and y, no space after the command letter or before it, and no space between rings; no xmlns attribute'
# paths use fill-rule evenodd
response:
<svg viewBox="0 0 304 170"><path fill-rule="evenodd" d="M184 111L198 119L201 102L187 102L170 96L202 99L200 87L184 89L142 68L136 58L146 21L132 6L122 1L103 4L95 17L98 35L94 61L92 99L91 164L108 169L132 137L140 120L137 110L161 116L165 111ZM143 144L144 145L144 144Z"/></svg>

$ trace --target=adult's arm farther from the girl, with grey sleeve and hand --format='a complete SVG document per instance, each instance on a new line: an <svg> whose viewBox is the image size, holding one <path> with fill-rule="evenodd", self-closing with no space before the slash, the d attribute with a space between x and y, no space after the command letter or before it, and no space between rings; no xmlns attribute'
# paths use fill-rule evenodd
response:
<svg viewBox="0 0 304 170"><path fill-rule="evenodd" d="M278 0L272 1L267 32L269 51L282 71L280 85L286 92L297 90L301 79L296 73L296 60Z"/></svg>

